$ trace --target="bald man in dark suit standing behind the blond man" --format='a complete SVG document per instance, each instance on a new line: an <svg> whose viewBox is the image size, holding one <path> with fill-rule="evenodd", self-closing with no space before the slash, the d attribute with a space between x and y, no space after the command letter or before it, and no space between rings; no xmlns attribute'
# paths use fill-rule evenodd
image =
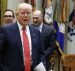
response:
<svg viewBox="0 0 75 71"><path fill-rule="evenodd" d="M33 26L37 27L37 29L41 32L44 51L46 56L46 69L47 71L50 69L50 56L54 54L55 48L55 34L53 26L49 26L43 23L43 16L40 10L36 10L33 12Z"/></svg>

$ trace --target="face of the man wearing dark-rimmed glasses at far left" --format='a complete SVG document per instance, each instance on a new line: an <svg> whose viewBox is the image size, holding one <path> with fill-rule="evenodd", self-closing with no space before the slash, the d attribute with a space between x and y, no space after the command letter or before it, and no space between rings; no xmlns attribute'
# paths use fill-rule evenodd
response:
<svg viewBox="0 0 75 71"><path fill-rule="evenodd" d="M9 24L14 20L13 13L11 11L6 11L4 14L4 23Z"/></svg>

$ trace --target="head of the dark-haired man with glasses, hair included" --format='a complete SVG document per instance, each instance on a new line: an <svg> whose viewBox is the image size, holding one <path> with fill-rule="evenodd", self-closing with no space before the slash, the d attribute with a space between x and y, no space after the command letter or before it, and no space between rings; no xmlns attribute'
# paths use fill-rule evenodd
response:
<svg viewBox="0 0 75 71"><path fill-rule="evenodd" d="M13 23L14 21L14 12L11 9L6 9L4 12L4 25Z"/></svg>

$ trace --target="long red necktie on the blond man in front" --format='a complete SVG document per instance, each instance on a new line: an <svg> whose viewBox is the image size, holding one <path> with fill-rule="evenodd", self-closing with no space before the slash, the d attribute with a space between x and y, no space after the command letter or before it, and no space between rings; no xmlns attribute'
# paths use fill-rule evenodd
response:
<svg viewBox="0 0 75 71"><path fill-rule="evenodd" d="M30 71L31 69L30 48L25 28L23 28L23 47L24 47L24 65L25 65L24 71Z"/></svg>

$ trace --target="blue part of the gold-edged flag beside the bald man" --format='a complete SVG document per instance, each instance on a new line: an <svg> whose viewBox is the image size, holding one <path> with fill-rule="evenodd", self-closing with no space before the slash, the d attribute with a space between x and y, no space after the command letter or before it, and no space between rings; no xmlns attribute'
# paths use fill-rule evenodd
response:
<svg viewBox="0 0 75 71"><path fill-rule="evenodd" d="M56 45L59 47L62 53L64 51L64 34L60 32L59 25L56 21L53 23L53 25L55 29Z"/></svg>

